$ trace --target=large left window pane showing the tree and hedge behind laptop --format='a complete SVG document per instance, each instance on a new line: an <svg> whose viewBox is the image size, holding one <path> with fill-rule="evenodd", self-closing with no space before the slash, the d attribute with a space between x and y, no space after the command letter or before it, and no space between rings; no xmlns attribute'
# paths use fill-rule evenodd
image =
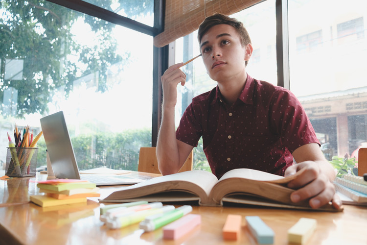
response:
<svg viewBox="0 0 367 245"><path fill-rule="evenodd" d="M2 145L15 123L39 131L63 110L79 168L137 170L151 146L153 38L43 0L1 4Z"/></svg>

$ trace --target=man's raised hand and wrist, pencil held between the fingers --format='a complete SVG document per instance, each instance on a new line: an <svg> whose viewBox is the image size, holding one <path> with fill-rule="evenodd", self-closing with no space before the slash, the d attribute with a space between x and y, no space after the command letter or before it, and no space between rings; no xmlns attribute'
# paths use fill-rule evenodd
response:
<svg viewBox="0 0 367 245"><path fill-rule="evenodd" d="M177 103L177 85L184 86L186 74L179 69L183 63L170 66L161 76L163 89L163 106L175 107Z"/></svg>

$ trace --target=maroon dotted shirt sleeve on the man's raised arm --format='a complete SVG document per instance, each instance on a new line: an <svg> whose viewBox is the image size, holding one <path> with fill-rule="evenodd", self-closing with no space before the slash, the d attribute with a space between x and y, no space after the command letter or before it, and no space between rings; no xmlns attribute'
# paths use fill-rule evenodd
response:
<svg viewBox="0 0 367 245"><path fill-rule="evenodd" d="M176 139L190 146L197 147L202 136L200 115L200 106L195 105L193 101L184 111L184 115L176 130Z"/></svg>

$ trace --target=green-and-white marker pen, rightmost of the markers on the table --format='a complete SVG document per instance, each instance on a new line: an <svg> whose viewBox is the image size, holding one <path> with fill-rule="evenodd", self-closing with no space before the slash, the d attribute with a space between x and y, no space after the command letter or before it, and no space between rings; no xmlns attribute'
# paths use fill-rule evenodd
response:
<svg viewBox="0 0 367 245"><path fill-rule="evenodd" d="M184 205L179 208L176 208L173 211L167 212L156 219L147 219L139 224L140 229L144 229L145 231L154 231L162 226L176 221L183 217L184 215L190 213L192 211L192 207L190 205Z"/></svg>

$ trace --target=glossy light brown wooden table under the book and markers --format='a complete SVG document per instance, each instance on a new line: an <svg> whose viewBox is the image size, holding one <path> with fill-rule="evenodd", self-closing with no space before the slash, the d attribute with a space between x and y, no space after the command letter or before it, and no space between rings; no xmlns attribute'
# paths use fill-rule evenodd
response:
<svg viewBox="0 0 367 245"><path fill-rule="evenodd" d="M151 178L154 174L132 172L135 177ZM286 245L287 231L299 218L312 218L317 229L308 245L367 245L367 208L344 205L344 212L285 210L259 207L201 207L193 206L193 214L200 214L202 224L178 241L162 239L162 229L144 233L138 224L111 230L99 221L96 198L84 205L42 208L29 202L29 195L37 195L36 183L46 174L36 177L0 180L0 244L34 245L109 245L109 244L256 244L245 225L245 216L259 216L275 232L276 245ZM123 186L101 188L101 197ZM177 206L181 206L179 204ZM237 242L222 238L222 228L229 214L243 217L241 237Z"/></svg>

